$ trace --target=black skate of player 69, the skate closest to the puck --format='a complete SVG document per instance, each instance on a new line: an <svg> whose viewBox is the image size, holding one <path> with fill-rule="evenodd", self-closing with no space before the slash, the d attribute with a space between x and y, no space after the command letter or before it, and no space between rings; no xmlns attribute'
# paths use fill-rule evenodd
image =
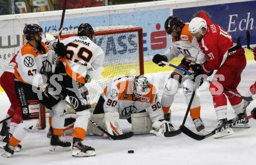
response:
<svg viewBox="0 0 256 165"><path fill-rule="evenodd" d="M73 138L72 156L74 157L88 157L95 156L95 149L91 146L83 144L83 141L79 138Z"/></svg>

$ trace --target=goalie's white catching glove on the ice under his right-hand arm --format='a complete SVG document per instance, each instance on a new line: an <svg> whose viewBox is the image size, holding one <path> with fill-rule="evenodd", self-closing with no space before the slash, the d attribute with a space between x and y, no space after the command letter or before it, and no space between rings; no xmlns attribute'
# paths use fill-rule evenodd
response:
<svg viewBox="0 0 256 165"><path fill-rule="evenodd" d="M163 134L166 131L176 131L177 129L170 123L170 121L155 121L152 124L153 130L150 130L151 134L155 134L158 137L165 137Z"/></svg>

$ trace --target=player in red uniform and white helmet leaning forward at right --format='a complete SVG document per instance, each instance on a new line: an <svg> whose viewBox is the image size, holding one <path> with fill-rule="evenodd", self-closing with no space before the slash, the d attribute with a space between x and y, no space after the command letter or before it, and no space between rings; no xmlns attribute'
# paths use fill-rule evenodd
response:
<svg viewBox="0 0 256 165"><path fill-rule="evenodd" d="M224 91L223 88L238 94L236 88L241 80L241 72L246 67L244 49L239 43L234 44L232 36L218 24L213 23L203 12L190 21L189 31L197 38L201 51L207 56L207 61L202 64L203 72L209 73L212 70L217 70L209 86L218 119L216 130L219 132L214 135L214 138L232 135L232 128L219 130L223 126L227 126L227 98L237 114L233 121L246 120L247 114L244 101ZM248 128L248 120L240 126Z"/></svg>

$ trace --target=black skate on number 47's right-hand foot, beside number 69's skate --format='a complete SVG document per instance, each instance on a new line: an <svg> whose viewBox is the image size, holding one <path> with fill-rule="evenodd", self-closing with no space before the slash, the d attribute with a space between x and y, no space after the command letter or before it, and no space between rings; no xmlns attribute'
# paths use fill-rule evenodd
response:
<svg viewBox="0 0 256 165"><path fill-rule="evenodd" d="M58 135L52 135L51 137L51 149L50 151L66 151L71 150L71 143L63 141Z"/></svg>

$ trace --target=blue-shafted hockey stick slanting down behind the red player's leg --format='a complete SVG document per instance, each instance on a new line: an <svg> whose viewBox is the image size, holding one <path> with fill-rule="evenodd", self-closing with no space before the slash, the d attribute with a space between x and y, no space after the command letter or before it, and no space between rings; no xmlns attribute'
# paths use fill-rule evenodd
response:
<svg viewBox="0 0 256 165"><path fill-rule="evenodd" d="M164 62L164 61L162 61L161 63L163 63L163 64L165 64L165 65L168 65L168 66L170 66L170 67L174 67L174 68L176 68L176 69L179 69L179 70L181 70L181 71L184 71L185 73L187 73L187 74L189 74L189 75L191 75L191 74L193 74L193 73L191 73L190 71L188 71L188 70L185 70L185 69L183 69L183 68L181 68L181 67L179 67L179 66L175 66L175 65L173 65L173 64L170 64L170 63L167 63L167 62ZM212 81L209 81L209 80L205 80L205 81L207 81L207 83L212 83ZM254 101L254 99L256 99L256 94L255 95L253 95L253 96L242 96L242 95L240 95L240 94L237 94L236 92L233 92L233 91L230 91L229 89L227 89L227 88L223 88L225 91L227 91L227 92L229 92L230 94L232 94L232 95L234 95L234 96L237 96L237 97L239 97L239 98L241 98L241 99L244 99L245 101L247 101L247 102L251 102L251 101Z"/></svg>

